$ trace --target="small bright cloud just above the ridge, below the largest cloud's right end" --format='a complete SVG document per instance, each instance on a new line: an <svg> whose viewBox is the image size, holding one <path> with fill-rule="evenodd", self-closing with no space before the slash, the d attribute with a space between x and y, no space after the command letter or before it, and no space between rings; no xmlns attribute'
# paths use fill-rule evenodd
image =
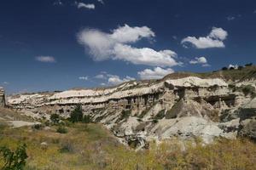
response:
<svg viewBox="0 0 256 170"><path fill-rule="evenodd" d="M144 71L139 71L137 74L141 79L160 79L172 72L174 71L171 68L162 69L160 67L155 67L154 70L145 69Z"/></svg>

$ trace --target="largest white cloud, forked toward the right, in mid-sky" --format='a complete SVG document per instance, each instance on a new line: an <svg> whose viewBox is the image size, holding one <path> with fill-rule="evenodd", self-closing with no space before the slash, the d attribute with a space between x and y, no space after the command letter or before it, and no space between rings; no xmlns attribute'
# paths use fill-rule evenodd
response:
<svg viewBox="0 0 256 170"><path fill-rule="evenodd" d="M154 38L154 31L147 26L119 26L106 33L99 30L85 29L78 34L78 41L89 49L93 59L119 59L135 65L172 66L177 65L177 54L170 49L155 51L152 48L134 48L131 43L142 38Z"/></svg>

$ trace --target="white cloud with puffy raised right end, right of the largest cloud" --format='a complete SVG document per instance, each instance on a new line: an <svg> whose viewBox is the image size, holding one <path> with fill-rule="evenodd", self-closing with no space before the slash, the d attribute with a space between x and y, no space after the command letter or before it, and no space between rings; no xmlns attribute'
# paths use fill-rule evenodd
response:
<svg viewBox="0 0 256 170"><path fill-rule="evenodd" d="M186 47L185 43L191 43L195 48L224 48L224 40L228 36L228 32L222 28L212 27L212 31L207 37L185 37L182 44Z"/></svg>

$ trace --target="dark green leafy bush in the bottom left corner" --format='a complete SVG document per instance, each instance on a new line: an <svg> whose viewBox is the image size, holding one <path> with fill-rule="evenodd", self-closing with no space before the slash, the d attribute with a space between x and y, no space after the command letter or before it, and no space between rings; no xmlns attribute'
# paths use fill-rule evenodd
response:
<svg viewBox="0 0 256 170"><path fill-rule="evenodd" d="M3 170L23 170L26 166L26 144L20 144L15 151L6 146L0 147L0 154L3 155Z"/></svg>

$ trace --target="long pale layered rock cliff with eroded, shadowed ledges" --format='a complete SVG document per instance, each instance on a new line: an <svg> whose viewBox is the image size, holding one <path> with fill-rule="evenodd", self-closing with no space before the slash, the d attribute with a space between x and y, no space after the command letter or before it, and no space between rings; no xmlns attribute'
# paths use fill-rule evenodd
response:
<svg viewBox="0 0 256 170"><path fill-rule="evenodd" d="M209 143L219 136L236 138L239 108L252 98L236 89L219 78L165 77L114 88L19 94L9 96L8 105L28 116L49 118L53 113L67 117L79 104L85 115L102 122L125 144L140 147L173 137L201 137Z"/></svg>

